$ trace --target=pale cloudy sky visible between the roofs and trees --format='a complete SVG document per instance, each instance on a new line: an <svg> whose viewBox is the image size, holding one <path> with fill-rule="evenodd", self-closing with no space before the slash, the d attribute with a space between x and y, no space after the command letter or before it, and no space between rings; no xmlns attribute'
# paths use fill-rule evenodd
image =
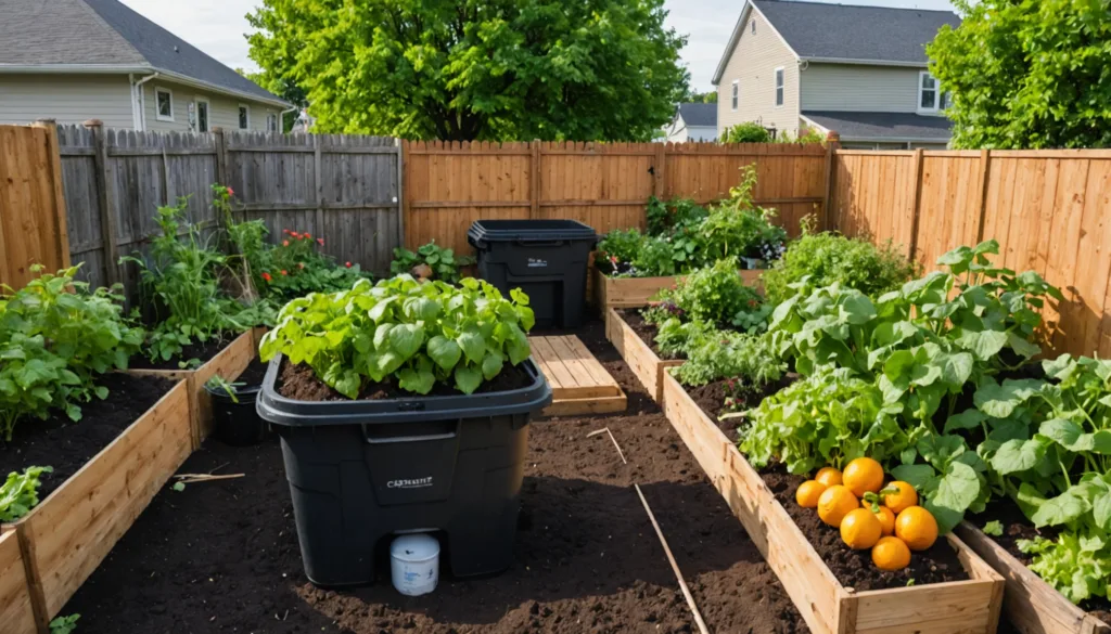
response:
<svg viewBox="0 0 1111 634"><path fill-rule="evenodd" d="M247 57L243 33L250 30L244 16L260 3L259 0L122 1L231 68L257 70ZM949 0L852 0L843 3L952 8ZM691 87L695 90L710 89L710 78L741 6L741 0L667 0L667 8L671 11L669 26L690 36L682 57L691 72Z"/></svg>

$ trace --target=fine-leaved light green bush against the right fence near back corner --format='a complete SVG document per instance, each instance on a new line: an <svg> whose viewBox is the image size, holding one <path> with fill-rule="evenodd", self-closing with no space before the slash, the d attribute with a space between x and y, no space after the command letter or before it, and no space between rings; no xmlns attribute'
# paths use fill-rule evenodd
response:
<svg viewBox="0 0 1111 634"><path fill-rule="evenodd" d="M840 283L869 296L901 286L914 275L914 265L891 243L877 246L837 233L803 234L793 240L771 270L762 275L768 301L780 303L794 294L798 282L811 288Z"/></svg>

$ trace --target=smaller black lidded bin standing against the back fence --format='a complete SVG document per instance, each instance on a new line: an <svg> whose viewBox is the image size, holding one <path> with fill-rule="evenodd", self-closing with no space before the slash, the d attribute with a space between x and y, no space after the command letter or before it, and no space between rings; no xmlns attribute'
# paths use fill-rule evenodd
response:
<svg viewBox="0 0 1111 634"><path fill-rule="evenodd" d="M479 220L467 241L479 252L479 278L502 293L524 291L537 325L582 324L593 229L574 220Z"/></svg>

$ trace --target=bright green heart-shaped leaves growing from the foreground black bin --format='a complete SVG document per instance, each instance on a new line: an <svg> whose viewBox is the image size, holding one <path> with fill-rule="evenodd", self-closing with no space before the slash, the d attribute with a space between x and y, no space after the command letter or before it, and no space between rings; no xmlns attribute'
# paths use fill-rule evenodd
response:
<svg viewBox="0 0 1111 634"><path fill-rule="evenodd" d="M282 353L337 392L358 397L368 382L396 380L428 394L452 383L464 394L529 358L536 322L520 290L507 300L487 282L460 286L399 275L350 291L293 300L262 340L263 361Z"/></svg>

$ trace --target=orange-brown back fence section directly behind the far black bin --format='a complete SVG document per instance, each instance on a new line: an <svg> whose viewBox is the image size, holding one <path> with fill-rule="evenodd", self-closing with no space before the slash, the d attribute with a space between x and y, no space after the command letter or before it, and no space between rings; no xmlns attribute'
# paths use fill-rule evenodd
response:
<svg viewBox="0 0 1111 634"><path fill-rule="evenodd" d="M799 221L824 222L831 154L821 145L741 143L488 143L406 141L404 227L410 249L430 240L470 252L479 219L565 218L599 233L643 228L645 202L729 195L755 163L757 202Z"/></svg>

